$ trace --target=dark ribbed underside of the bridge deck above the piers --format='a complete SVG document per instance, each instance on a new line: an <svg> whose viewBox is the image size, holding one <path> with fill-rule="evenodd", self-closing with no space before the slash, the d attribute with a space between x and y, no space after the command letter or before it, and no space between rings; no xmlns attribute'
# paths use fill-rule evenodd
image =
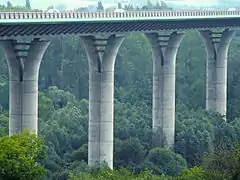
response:
<svg viewBox="0 0 240 180"><path fill-rule="evenodd" d="M86 22L58 24L0 25L0 38L16 36L122 34L161 30L239 28L240 19L206 19L181 21Z"/></svg>

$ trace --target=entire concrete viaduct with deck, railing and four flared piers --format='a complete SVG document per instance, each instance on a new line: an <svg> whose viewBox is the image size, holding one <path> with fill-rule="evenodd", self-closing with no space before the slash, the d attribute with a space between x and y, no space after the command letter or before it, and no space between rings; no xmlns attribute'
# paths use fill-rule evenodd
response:
<svg viewBox="0 0 240 180"><path fill-rule="evenodd" d="M227 53L239 26L240 11L0 12L0 43L9 68L9 135L25 128L37 133L38 74L50 43L43 39L77 35L89 63L88 164L107 162L113 168L115 58L124 36L144 33L153 58L152 128L161 132L156 145L171 148L176 55L184 31L198 30L205 42L206 109L226 116Z"/></svg>

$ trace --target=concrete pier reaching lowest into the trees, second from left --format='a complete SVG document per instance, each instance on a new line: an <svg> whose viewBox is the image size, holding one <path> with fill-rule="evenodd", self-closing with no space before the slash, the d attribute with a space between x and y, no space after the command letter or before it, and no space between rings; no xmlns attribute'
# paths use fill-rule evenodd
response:
<svg viewBox="0 0 240 180"><path fill-rule="evenodd" d="M123 39L82 37L89 62L89 165L113 168L114 66Z"/></svg>

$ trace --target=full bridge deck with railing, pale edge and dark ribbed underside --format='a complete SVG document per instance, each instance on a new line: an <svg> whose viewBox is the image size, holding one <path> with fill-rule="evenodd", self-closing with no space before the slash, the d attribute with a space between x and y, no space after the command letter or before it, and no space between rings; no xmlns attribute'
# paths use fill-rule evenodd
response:
<svg viewBox="0 0 240 180"><path fill-rule="evenodd" d="M240 11L1 12L0 37L239 28Z"/></svg>

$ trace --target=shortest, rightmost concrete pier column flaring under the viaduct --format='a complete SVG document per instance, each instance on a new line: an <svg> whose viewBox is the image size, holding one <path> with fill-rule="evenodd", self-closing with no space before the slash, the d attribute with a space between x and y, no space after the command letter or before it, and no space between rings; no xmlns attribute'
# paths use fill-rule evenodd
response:
<svg viewBox="0 0 240 180"><path fill-rule="evenodd" d="M222 33L200 31L207 52L206 109L218 112L224 118L227 113L227 54L235 31Z"/></svg>

